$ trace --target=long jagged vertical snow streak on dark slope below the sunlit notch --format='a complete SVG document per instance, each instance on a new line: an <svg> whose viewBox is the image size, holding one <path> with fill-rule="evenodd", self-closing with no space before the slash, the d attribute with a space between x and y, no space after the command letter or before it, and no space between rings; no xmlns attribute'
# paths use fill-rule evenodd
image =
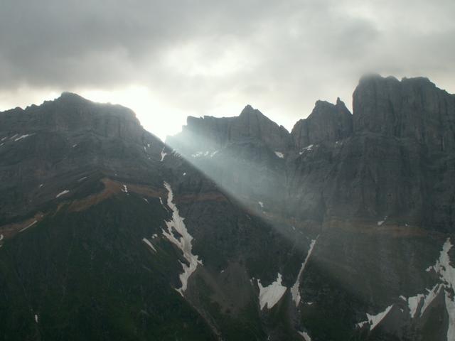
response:
<svg viewBox="0 0 455 341"><path fill-rule="evenodd" d="M179 293L183 296L183 292L186 291L186 287L188 285L188 278L190 278L191 274L196 271L198 264L202 264L202 261L198 259L196 254L193 254L192 249L193 245L191 244L193 237L191 234L188 233L186 229L185 223L183 222L183 217L180 216L178 213L177 206L173 203L173 193L171 185L168 183L164 183L164 187L168 190L168 201L167 205L172 210L172 220L166 222L166 226L168 228L167 231L163 230L164 237L166 237L169 242L175 244L178 249L181 249L183 252L183 257L188 261L188 265L181 263L183 267L183 274L180 275L180 280L182 282L181 288L177 289ZM176 239L172 231L175 230L178 234L181 235L180 239Z"/></svg>

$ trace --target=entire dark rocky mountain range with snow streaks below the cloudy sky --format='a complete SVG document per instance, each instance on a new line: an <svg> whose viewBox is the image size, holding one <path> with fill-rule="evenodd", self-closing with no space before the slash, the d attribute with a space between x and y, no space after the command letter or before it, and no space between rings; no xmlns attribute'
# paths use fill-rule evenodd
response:
<svg viewBox="0 0 455 341"><path fill-rule="evenodd" d="M455 96L363 77L291 132L0 113L1 340L455 340Z"/></svg>

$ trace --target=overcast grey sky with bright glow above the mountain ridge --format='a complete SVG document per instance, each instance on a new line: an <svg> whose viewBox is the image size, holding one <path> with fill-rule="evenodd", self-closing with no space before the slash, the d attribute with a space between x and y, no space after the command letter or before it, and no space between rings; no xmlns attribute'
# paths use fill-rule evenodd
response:
<svg viewBox="0 0 455 341"><path fill-rule="evenodd" d="M454 0L2 0L0 110L77 92L164 139L245 104L291 129L365 72L455 92Z"/></svg>

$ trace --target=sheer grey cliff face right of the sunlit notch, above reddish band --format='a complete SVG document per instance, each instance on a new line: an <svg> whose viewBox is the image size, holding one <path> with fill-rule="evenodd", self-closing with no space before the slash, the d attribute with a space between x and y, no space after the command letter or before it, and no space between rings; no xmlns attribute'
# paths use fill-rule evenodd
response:
<svg viewBox="0 0 455 341"><path fill-rule="evenodd" d="M340 99L318 101L291 134L274 125L264 137L257 133L259 124L252 129L245 123L244 111L239 117L192 119L186 135L169 142L246 201L267 197L280 215L319 222L387 216L452 231L454 98L424 78L369 76L355 89L353 114ZM208 138L203 129L193 129L196 121L210 121L217 129ZM245 129L223 144L211 143L219 140L216 131L232 126ZM205 143L193 148L188 143L193 136ZM179 139L188 151L179 148ZM208 150L211 158L205 157Z"/></svg>

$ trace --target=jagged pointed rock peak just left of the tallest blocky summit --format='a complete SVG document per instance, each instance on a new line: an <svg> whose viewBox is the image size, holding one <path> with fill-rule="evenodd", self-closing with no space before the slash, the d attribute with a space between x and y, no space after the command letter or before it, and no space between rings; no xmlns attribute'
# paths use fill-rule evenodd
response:
<svg viewBox="0 0 455 341"><path fill-rule="evenodd" d="M311 144L340 141L352 134L352 114L339 98L336 104L316 102L309 117L298 121L291 131L294 145L299 150Z"/></svg>

